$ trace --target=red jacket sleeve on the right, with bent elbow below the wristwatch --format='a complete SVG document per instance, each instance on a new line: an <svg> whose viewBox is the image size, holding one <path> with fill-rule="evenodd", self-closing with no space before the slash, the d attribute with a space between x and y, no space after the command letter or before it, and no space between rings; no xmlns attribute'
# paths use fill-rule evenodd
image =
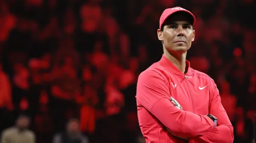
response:
<svg viewBox="0 0 256 143"><path fill-rule="evenodd" d="M234 140L233 126L231 125L228 115L222 106L219 91L215 83L212 83L212 100L209 106L210 114L216 116L217 127L211 129L205 135L190 139L190 143L193 142L223 142L231 143Z"/></svg>

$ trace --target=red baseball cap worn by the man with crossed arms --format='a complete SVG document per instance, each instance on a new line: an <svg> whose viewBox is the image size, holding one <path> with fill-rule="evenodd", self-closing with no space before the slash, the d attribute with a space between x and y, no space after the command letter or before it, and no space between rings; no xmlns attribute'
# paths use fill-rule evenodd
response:
<svg viewBox="0 0 256 143"><path fill-rule="evenodd" d="M162 12L162 15L160 17L159 20L159 28L161 29L162 24L165 22L165 20L172 14L174 14L175 12L179 12L179 11L184 11L184 12L188 12L188 14L192 17L193 19L193 23L192 25L194 25L195 23L195 16L187 9L181 8L181 7L173 7L173 8L167 8L164 10L164 12Z"/></svg>

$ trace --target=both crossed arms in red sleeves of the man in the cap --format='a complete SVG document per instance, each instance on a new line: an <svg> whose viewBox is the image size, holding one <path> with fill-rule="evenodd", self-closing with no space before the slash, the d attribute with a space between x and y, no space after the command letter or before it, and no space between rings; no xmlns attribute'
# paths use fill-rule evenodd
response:
<svg viewBox="0 0 256 143"><path fill-rule="evenodd" d="M206 115L183 111L174 106L169 99L169 88L164 77L155 71L145 71L139 75L136 98L174 136L189 138L191 143L229 143L234 140L233 127L220 102L215 84L214 88L209 112L217 117L217 127L214 127L214 122Z"/></svg>

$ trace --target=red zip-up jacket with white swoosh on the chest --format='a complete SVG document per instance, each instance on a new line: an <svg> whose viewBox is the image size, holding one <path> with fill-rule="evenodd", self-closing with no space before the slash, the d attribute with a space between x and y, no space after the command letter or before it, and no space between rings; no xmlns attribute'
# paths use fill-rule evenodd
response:
<svg viewBox="0 0 256 143"><path fill-rule="evenodd" d="M189 61L186 64L189 66ZM170 97L182 110L171 103ZM164 55L139 75L136 100L139 126L147 143L234 140L233 126L214 81L190 67L182 73ZM218 119L216 127L208 113Z"/></svg>

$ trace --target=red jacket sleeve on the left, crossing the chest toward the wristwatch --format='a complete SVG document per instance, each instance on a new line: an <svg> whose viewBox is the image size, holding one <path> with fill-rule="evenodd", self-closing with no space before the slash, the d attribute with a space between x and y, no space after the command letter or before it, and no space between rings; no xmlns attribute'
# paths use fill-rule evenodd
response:
<svg viewBox="0 0 256 143"><path fill-rule="evenodd" d="M173 135L182 138L202 136L214 127L206 115L183 111L173 106L168 83L156 71L144 71L138 77L137 102L151 112ZM145 119L146 120L146 119Z"/></svg>

